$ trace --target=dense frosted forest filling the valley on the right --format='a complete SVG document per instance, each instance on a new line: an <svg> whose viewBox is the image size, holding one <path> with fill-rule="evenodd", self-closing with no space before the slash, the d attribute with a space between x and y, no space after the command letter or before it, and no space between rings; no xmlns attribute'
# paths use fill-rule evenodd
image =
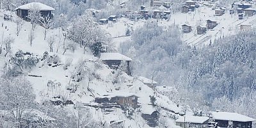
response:
<svg viewBox="0 0 256 128"><path fill-rule="evenodd" d="M134 74L174 86L177 93L165 95L195 113L220 109L255 116L255 29L208 44L184 44L175 25L163 30L148 22L120 51L134 59Z"/></svg>

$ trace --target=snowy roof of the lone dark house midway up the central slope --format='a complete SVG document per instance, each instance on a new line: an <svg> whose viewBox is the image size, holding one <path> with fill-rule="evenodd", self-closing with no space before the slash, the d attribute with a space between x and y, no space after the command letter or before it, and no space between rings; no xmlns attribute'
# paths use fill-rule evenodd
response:
<svg viewBox="0 0 256 128"><path fill-rule="evenodd" d="M123 54L120 54L118 52L105 52L100 54L101 60L126 60L126 61L132 61L131 58L124 56Z"/></svg>

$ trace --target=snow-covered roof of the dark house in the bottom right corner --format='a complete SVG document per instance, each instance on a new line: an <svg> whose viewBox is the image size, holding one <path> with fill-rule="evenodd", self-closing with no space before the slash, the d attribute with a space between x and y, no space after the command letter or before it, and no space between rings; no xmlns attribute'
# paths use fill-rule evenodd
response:
<svg viewBox="0 0 256 128"><path fill-rule="evenodd" d="M250 118L248 116L244 116L238 113L229 113L229 112L216 112L212 111L212 118L215 120L231 120L231 121L237 121L237 122L255 122L256 120L254 118Z"/></svg>

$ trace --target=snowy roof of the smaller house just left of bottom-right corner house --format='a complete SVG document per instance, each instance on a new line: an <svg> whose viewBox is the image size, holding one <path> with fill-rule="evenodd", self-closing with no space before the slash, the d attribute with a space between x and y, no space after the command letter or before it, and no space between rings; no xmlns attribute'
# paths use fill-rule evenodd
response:
<svg viewBox="0 0 256 128"><path fill-rule="evenodd" d="M185 116L180 116L180 118L175 120L175 122L184 122L184 118L185 118L185 122L187 122L187 123L194 123L194 124L204 124L204 122L209 120L209 117L206 117L206 116L189 116L189 115L185 115Z"/></svg>

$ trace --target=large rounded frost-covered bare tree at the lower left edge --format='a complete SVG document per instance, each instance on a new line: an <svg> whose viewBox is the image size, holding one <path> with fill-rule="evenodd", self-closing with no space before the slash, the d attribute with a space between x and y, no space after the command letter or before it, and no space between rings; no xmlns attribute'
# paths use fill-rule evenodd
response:
<svg viewBox="0 0 256 128"><path fill-rule="evenodd" d="M0 79L1 109L10 111L17 122L22 120L22 112L35 106L36 95L32 84L24 77Z"/></svg>

